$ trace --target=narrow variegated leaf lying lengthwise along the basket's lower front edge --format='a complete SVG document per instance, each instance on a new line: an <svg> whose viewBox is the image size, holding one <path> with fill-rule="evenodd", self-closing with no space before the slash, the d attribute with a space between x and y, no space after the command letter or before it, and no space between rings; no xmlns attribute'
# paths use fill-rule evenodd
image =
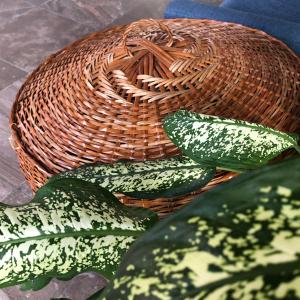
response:
<svg viewBox="0 0 300 300"><path fill-rule="evenodd" d="M79 178L136 198L155 199L188 194L205 186L215 168L202 167L188 157L177 156L143 162L96 163L50 178Z"/></svg>

